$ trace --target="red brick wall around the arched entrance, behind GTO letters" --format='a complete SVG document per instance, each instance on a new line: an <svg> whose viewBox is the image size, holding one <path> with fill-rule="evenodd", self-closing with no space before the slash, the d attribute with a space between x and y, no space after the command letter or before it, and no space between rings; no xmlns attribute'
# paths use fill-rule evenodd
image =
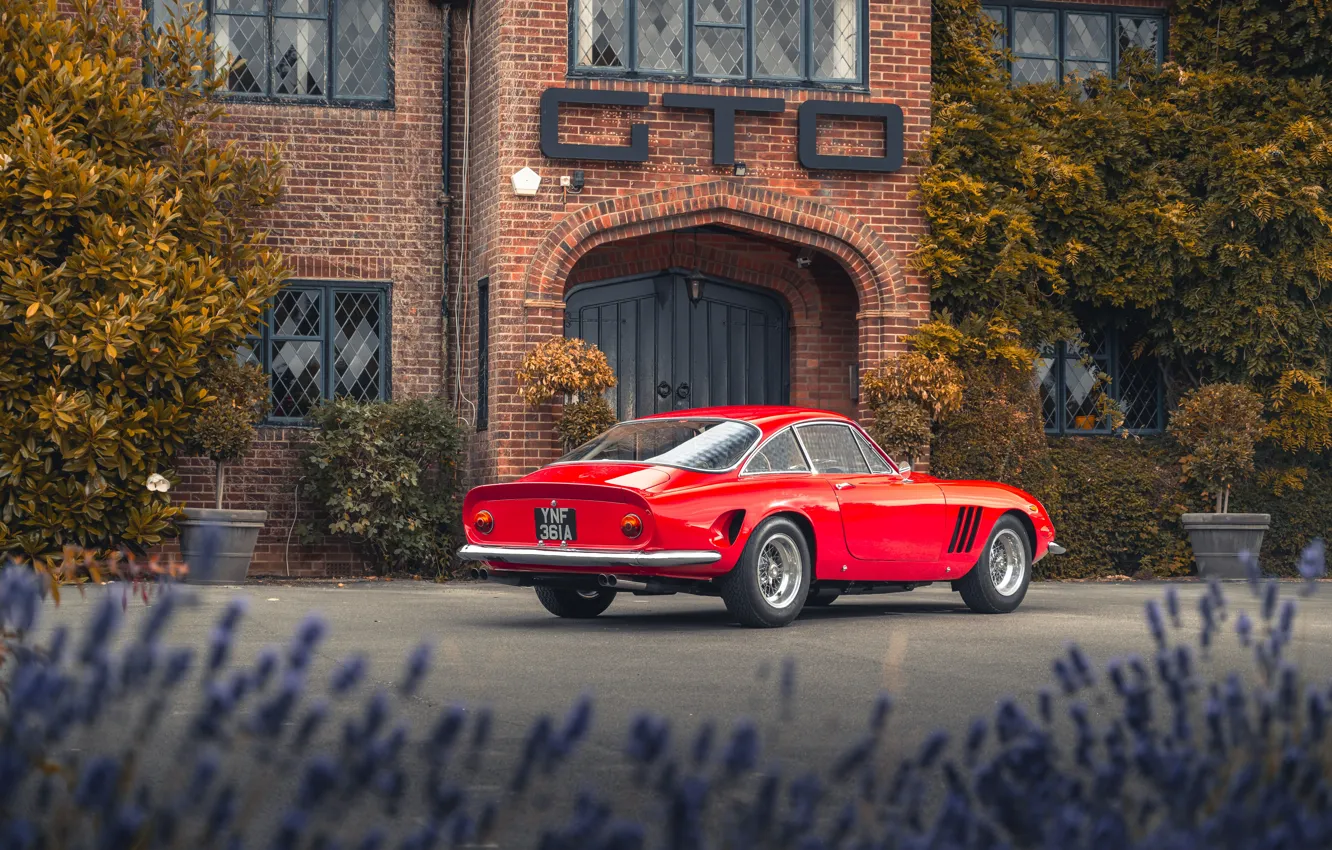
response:
<svg viewBox="0 0 1332 850"><path fill-rule="evenodd" d="M883 101L902 107L908 157L919 153L930 120L930 7L923 0L870 3L867 92L734 88L713 85L589 81L567 79L569 7L565 0L533 4L496 0L476 4L473 64L473 160L466 284L490 280L490 428L477 436L473 472L478 480L510 478L550 460L551 412L529 409L513 377L538 341L561 333L563 290L589 252L679 226L721 224L770 245L811 245L844 286L817 317L795 332L793 398L821 398L819 382L846 386L846 366L858 356L872 365L928 310L926 282L907 257L923 229L910 197L918 168L892 175L809 172L797 161L797 107L814 96ZM646 109L565 108L561 129L569 141L625 144L631 123L651 128L647 163L554 161L538 148L538 99L549 87L647 91ZM485 91L485 97L478 97ZM737 159L749 167L733 177L711 164L711 119L705 112L663 109L663 92L779 96L781 115L743 115L737 125ZM478 124L480 112L494 116ZM482 141L484 139L484 141ZM867 124L834 120L821 127L825 152L872 153L882 145ZM515 197L510 176L531 167L542 177L537 197ZM559 175L581 169L582 195L563 196ZM621 246L623 249L623 245ZM746 261L749 262L749 261ZM789 260L787 260L789 262ZM614 262L611 261L611 265ZM733 264L734 265L734 264ZM742 264L743 265L743 264ZM839 266L839 268L838 268ZM594 268L594 265L587 266ZM821 268L826 268L822 266ZM474 293L474 290L473 290ZM469 340L476 340L474 313ZM817 328L817 330L815 330ZM465 350L473 349L469 344ZM464 372L476 389L476 370ZM848 409L846 397L825 406Z"/></svg>

